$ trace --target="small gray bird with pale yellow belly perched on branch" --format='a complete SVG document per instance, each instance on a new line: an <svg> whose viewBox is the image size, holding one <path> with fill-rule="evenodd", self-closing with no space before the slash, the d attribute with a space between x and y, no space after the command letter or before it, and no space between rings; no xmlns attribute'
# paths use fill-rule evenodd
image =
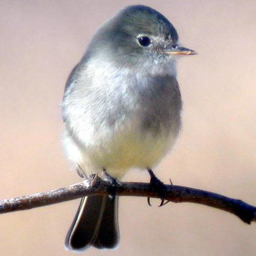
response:
<svg viewBox="0 0 256 256"><path fill-rule="evenodd" d="M67 157L86 175L102 170L121 179L131 168L150 170L173 146L181 127L178 55L195 51L178 44L161 13L129 6L104 23L71 72L62 101ZM66 248L119 242L117 197L82 198Z"/></svg>

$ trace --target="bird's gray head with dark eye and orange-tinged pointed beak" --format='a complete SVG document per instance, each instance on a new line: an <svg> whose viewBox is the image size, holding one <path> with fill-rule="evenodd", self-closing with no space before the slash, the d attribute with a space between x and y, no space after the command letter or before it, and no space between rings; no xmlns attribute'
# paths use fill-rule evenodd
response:
<svg viewBox="0 0 256 256"><path fill-rule="evenodd" d="M90 44L90 52L117 65L148 68L172 63L177 56L195 51L178 43L174 26L158 11L142 5L129 6L103 24Z"/></svg>

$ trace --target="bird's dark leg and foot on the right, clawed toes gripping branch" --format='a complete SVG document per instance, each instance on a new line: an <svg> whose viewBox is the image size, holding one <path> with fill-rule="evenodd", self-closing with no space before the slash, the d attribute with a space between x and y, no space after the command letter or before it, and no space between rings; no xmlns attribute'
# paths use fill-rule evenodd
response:
<svg viewBox="0 0 256 256"><path fill-rule="evenodd" d="M160 180L156 177L156 175L153 173L152 169L148 168L148 169L147 169L147 172L150 174L150 177L151 177L151 179L150 179L150 185L151 185L151 187L152 187L152 190L153 190L154 192L156 192L156 193L159 195L160 199L161 199L161 203L160 203L160 205L159 205L159 207L161 207L161 206L163 206L163 205L165 205L166 203L169 202L169 201L164 202L167 188L166 188L166 186L164 185L164 183L163 183L162 181L160 181ZM150 197L147 198L147 203L148 203L148 205L151 206Z"/></svg>

